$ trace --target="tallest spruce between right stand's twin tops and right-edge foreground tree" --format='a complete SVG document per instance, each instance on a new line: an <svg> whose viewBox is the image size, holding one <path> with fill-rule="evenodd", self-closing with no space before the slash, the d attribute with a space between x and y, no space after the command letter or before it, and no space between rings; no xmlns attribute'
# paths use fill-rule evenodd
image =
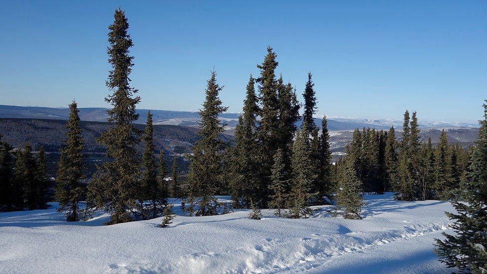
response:
<svg viewBox="0 0 487 274"><path fill-rule="evenodd" d="M449 146L447 140L447 133L442 131L440 141L436 148L435 155L435 192L436 198L440 200L448 200L451 197L451 173L449 165Z"/></svg>

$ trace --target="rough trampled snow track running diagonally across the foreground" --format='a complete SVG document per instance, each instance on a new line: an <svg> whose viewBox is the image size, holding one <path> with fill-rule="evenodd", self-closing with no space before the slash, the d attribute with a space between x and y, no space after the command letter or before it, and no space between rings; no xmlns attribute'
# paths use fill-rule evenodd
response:
<svg viewBox="0 0 487 274"><path fill-rule="evenodd" d="M408 223L405 221L405 223ZM303 238L264 239L260 244L224 252L193 253L168 264L111 265L106 273L279 273L310 270L334 256L448 229L448 223L404 225L401 230L349 232Z"/></svg>

